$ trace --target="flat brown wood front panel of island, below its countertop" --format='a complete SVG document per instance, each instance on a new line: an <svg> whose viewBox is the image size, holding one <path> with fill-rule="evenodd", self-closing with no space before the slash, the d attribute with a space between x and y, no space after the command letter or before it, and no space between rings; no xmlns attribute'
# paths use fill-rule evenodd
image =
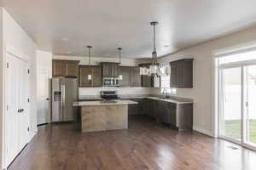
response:
<svg viewBox="0 0 256 170"><path fill-rule="evenodd" d="M82 132L128 128L128 105L82 106Z"/></svg>

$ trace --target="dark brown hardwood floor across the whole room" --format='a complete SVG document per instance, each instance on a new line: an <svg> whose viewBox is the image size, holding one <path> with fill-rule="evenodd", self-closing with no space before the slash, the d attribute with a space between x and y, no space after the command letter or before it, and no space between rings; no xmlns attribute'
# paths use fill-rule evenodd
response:
<svg viewBox="0 0 256 170"><path fill-rule="evenodd" d="M148 117L131 116L129 130L79 133L73 124L39 127L9 167L21 169L254 170L256 153L201 133L178 133Z"/></svg>

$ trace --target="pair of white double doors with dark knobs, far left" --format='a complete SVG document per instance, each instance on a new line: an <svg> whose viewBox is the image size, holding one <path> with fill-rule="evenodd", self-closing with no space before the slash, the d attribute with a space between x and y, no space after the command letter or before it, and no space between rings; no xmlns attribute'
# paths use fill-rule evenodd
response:
<svg viewBox="0 0 256 170"><path fill-rule="evenodd" d="M27 111L28 74L26 62L7 54L5 114L5 162L9 165L28 142L29 112Z"/></svg>

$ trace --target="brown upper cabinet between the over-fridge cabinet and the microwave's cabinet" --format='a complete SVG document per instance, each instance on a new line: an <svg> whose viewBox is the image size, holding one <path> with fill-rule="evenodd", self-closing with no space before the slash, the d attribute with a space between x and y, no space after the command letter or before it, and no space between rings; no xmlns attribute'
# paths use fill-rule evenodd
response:
<svg viewBox="0 0 256 170"><path fill-rule="evenodd" d="M91 74L91 80L88 75ZM79 66L79 87L102 87L102 66L80 65Z"/></svg>

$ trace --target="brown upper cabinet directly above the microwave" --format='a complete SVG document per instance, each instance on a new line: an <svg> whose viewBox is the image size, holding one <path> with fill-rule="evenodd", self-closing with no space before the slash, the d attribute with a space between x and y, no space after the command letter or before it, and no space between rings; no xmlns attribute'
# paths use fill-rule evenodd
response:
<svg viewBox="0 0 256 170"><path fill-rule="evenodd" d="M119 77L119 63L102 63L102 77Z"/></svg>

